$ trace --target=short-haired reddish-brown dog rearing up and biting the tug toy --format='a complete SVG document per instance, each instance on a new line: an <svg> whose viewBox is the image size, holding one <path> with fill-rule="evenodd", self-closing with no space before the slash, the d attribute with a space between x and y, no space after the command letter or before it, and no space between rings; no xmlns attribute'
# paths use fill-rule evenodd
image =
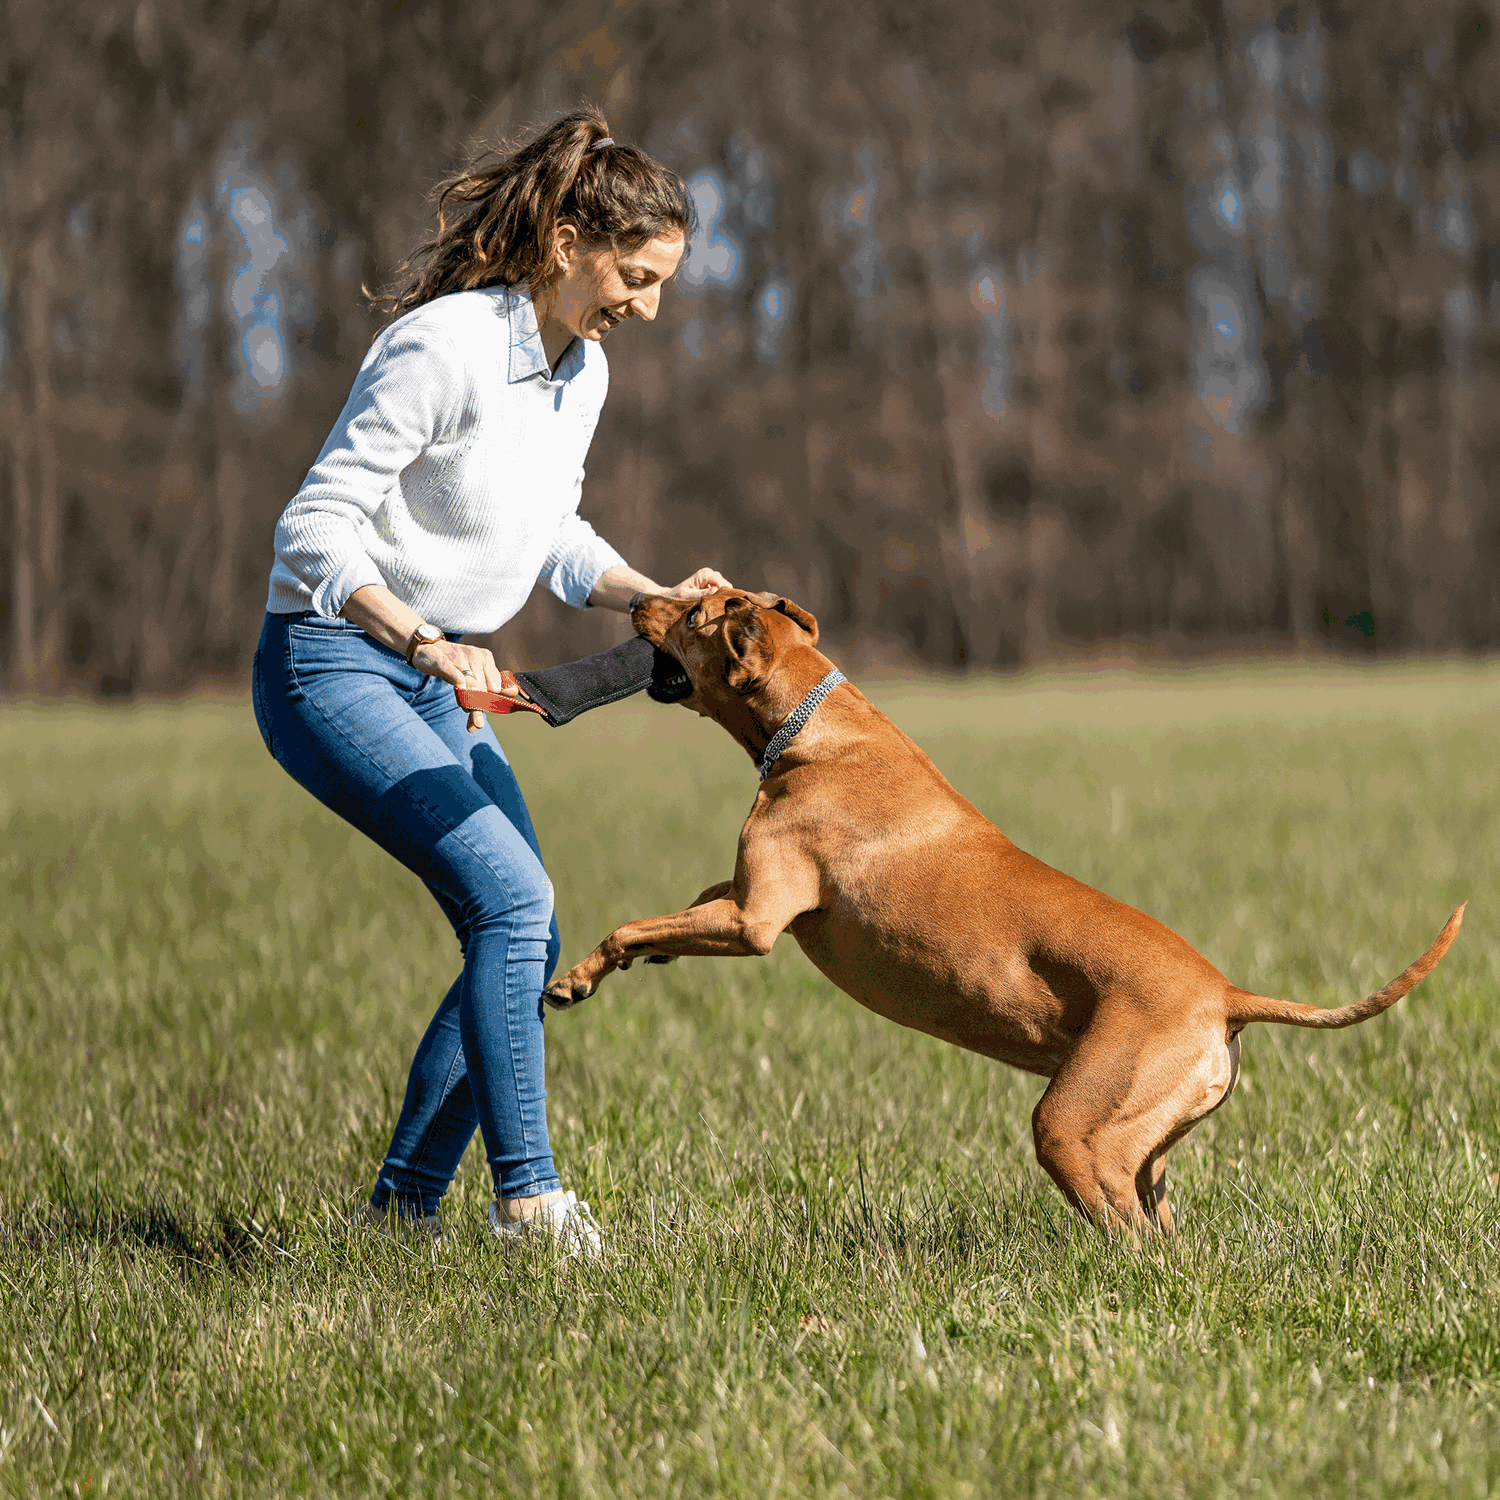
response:
<svg viewBox="0 0 1500 1500"><path fill-rule="evenodd" d="M632 621L682 663L684 706L758 762L831 669L818 621L771 594L639 596ZM1356 1005L1250 994L1161 922L1017 849L840 684L764 777L734 879L686 912L616 928L546 999L574 1005L636 958L765 954L790 930L861 1005L1050 1078L1032 1131L1068 1202L1172 1233L1167 1149L1228 1098L1240 1029L1368 1020L1431 974L1462 914Z"/></svg>

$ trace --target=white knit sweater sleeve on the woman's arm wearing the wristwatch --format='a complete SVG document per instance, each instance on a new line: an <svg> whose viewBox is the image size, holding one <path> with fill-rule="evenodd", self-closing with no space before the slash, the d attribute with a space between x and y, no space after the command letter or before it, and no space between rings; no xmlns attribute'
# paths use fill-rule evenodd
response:
<svg viewBox="0 0 1500 1500"><path fill-rule="evenodd" d="M339 420L276 524L276 556L330 620L350 594L384 584L363 543L400 471L462 410L464 362L432 330L392 328L370 350Z"/></svg>

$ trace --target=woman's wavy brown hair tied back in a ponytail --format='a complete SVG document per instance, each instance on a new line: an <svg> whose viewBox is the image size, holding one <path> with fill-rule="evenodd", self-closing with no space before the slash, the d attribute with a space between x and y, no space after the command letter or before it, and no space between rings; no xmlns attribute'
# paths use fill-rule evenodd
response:
<svg viewBox="0 0 1500 1500"><path fill-rule="evenodd" d="M698 216L682 178L634 146L598 144L608 138L609 122L585 105L525 144L482 153L438 186L438 232L370 302L399 318L478 286L524 285L536 297L560 276L552 246L562 224L616 254L672 231L690 238Z"/></svg>

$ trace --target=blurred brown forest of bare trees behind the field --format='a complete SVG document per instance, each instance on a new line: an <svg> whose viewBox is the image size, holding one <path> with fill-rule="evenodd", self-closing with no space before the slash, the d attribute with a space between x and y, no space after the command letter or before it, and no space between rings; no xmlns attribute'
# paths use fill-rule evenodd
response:
<svg viewBox="0 0 1500 1500"><path fill-rule="evenodd" d="M854 663L1492 650L1497 3L0 0L0 681L243 678L362 282L584 98L704 219L585 486L663 582Z"/></svg>

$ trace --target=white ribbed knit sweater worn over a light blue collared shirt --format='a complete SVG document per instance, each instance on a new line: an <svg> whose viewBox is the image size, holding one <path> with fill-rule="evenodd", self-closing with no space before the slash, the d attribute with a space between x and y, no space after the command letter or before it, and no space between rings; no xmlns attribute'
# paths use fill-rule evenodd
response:
<svg viewBox="0 0 1500 1500"><path fill-rule="evenodd" d="M582 606L624 561L578 513L604 351L554 380L525 292L452 292L370 345L328 441L276 525L273 615L333 618L384 584L434 626L498 630L534 584Z"/></svg>

